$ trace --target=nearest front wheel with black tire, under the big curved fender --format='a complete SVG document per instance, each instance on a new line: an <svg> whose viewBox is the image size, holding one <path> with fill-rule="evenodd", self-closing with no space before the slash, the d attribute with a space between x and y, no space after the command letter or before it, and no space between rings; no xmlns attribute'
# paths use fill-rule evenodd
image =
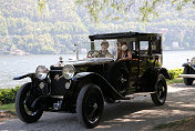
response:
<svg viewBox="0 0 195 131"><path fill-rule="evenodd" d="M101 89L95 84L84 85L76 100L76 115L84 127L94 128L100 123L104 107Z"/></svg>

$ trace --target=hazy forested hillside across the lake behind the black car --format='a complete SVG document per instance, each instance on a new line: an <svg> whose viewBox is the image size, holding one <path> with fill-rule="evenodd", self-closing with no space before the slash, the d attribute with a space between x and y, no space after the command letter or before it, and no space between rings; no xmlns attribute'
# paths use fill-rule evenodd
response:
<svg viewBox="0 0 195 131"><path fill-rule="evenodd" d="M131 17L133 14L133 17ZM157 19L144 24L135 21L136 13L127 20L93 23L85 9L70 0L50 0L43 11L37 0L0 1L0 53L69 53L73 43L88 41L89 34L123 31L164 33L163 48L195 49L195 11L182 13L161 7ZM86 48L86 43L80 48Z"/></svg>

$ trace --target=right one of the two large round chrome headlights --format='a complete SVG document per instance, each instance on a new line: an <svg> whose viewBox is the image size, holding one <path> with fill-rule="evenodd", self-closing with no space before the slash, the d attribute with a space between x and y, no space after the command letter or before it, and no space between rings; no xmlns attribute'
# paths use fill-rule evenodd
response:
<svg viewBox="0 0 195 131"><path fill-rule="evenodd" d="M62 75L65 79L71 79L74 75L75 69L71 64L66 64L62 70Z"/></svg>

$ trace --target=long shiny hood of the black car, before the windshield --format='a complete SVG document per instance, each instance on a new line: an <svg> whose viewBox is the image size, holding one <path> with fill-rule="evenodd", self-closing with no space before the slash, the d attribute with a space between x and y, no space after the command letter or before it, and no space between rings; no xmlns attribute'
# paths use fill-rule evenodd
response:
<svg viewBox="0 0 195 131"><path fill-rule="evenodd" d="M54 67L64 67L65 64L72 64L72 66L89 66L89 64L102 64L106 62L112 62L115 59L113 58L86 58L82 60L69 60L64 61L63 63L59 62L54 64Z"/></svg>

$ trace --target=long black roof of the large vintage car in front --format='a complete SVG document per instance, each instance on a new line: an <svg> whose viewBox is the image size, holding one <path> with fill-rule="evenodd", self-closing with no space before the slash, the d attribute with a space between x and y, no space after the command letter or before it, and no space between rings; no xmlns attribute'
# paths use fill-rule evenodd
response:
<svg viewBox="0 0 195 131"><path fill-rule="evenodd" d="M100 39L119 39L119 38L133 38L133 37L151 37L151 36L161 36L161 33L140 33L140 32L119 32L119 33L102 33L89 36L90 40L100 40Z"/></svg>

